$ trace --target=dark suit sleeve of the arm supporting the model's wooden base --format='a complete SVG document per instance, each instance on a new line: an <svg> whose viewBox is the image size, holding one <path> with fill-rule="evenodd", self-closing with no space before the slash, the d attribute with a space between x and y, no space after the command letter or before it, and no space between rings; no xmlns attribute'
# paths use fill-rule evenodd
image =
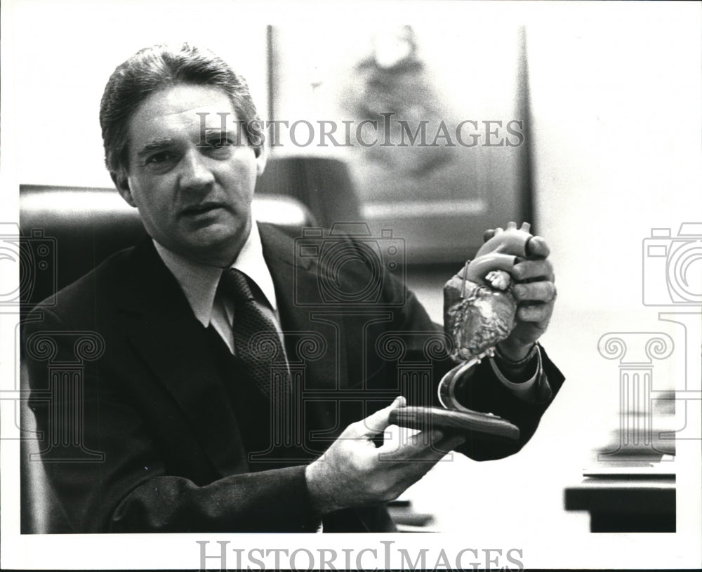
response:
<svg viewBox="0 0 702 572"><path fill-rule="evenodd" d="M68 387L61 372L76 362L80 331L41 312L43 319L23 331L29 405L44 434L49 485L74 532L316 529L303 466L218 479L206 470L182 476L172 458L159 455L149 420L119 390L124 378L114 364L86 361L74 378L79 384ZM51 359L41 351L47 344ZM188 444L183 448L184 455L194 454ZM100 454L102 460L95 457Z"/></svg>

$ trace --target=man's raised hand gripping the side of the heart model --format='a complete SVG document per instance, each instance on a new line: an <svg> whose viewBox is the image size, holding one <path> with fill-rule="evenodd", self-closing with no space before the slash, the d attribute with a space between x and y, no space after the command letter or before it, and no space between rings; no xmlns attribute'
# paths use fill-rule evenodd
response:
<svg viewBox="0 0 702 572"><path fill-rule="evenodd" d="M493 234L494 231L486 232L485 239ZM501 354L508 359L524 358L548 328L556 300L555 275L549 254L546 241L534 237L529 241L529 259L517 263L510 272L515 280L512 295L519 305L517 325L506 340L498 343Z"/></svg>

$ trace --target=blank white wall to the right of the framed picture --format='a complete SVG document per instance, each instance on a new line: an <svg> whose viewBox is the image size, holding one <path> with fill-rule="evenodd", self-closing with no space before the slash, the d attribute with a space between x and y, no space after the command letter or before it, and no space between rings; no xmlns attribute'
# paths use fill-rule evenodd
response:
<svg viewBox="0 0 702 572"><path fill-rule="evenodd" d="M569 379L550 415L572 427L574 451L602 446L617 423L618 361L598 352L602 335L671 335L675 353L655 364L654 390L680 391L702 377L699 315L687 331L658 319L699 306L642 301L666 279L660 266L643 277L660 262L644 256L651 229L675 237L682 222L702 222L701 10L631 6L557 9L528 27L537 213L559 289L545 342ZM701 293L702 257L689 262L691 291ZM677 427L684 409L679 401Z"/></svg>

